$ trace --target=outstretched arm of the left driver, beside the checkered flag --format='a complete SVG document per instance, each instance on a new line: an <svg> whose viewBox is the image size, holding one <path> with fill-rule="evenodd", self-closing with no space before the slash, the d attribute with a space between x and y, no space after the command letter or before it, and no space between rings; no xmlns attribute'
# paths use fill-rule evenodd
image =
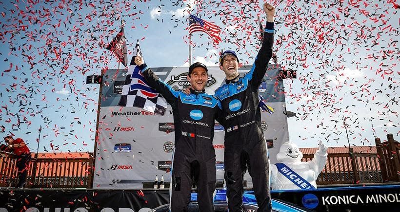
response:
<svg viewBox="0 0 400 212"><path fill-rule="evenodd" d="M143 58L140 55L135 57L135 63L138 65L140 73L147 81L147 84L160 93L169 104L172 104L177 100L179 92L172 89L171 86L166 84L160 79L160 77L151 71L150 68L144 63Z"/></svg>

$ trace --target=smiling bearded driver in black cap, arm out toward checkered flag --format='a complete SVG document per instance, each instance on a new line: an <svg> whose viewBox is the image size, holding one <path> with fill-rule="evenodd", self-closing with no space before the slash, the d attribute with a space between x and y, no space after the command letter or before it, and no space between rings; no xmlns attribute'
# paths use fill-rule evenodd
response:
<svg viewBox="0 0 400 212"><path fill-rule="evenodd" d="M213 147L214 120L220 113L220 102L205 93L207 67L194 63L187 79L190 94L175 91L163 82L144 63L140 55L135 64L147 84L159 92L171 105L175 124L175 150L170 184L170 210L186 212L193 181L197 182L200 212L213 212L213 194L216 188L216 163Z"/></svg>

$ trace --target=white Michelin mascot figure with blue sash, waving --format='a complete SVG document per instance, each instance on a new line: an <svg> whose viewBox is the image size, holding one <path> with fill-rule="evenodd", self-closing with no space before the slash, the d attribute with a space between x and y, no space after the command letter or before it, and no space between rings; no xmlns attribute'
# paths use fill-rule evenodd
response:
<svg viewBox="0 0 400 212"><path fill-rule="evenodd" d="M297 145L284 142L277 154L279 163L270 165L269 179L272 190L312 189L312 186L317 188L315 180L324 168L328 156L328 147L321 141L319 146L314 159L302 162L303 154Z"/></svg>

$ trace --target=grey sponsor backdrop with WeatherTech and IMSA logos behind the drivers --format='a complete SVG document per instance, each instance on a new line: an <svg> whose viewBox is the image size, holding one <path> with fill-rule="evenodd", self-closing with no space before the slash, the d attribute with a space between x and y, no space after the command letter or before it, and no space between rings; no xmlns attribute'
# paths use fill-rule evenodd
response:
<svg viewBox="0 0 400 212"><path fill-rule="evenodd" d="M250 66L242 67L245 74ZM208 67L206 92L214 91L224 83L225 75L219 67ZM269 146L271 163L276 162L280 144L288 141L287 117L283 81L277 80L280 67L269 65L260 86L260 95L274 113L261 112L262 129ZM190 85L186 79L187 67L152 68L164 82L174 89ZM143 182L154 181L163 175L170 181L170 167L174 150L174 123L171 106L165 116L137 107L118 106L125 80L125 70L107 70L104 73L99 120L99 142L96 150L93 188L142 188ZM214 148L217 155L217 180L224 173L224 129L216 122ZM252 187L251 177L246 174L247 186Z"/></svg>

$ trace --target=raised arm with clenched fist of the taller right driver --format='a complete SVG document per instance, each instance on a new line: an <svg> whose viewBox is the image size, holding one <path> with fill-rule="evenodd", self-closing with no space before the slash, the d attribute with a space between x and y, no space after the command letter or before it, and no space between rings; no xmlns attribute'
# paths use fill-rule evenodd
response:
<svg viewBox="0 0 400 212"><path fill-rule="evenodd" d="M264 29L264 36L261 44L261 48L257 57L253 63L253 67L245 77L252 81L254 86L260 86L262 78L268 68L268 62L272 57L272 47L274 45L274 16L275 7L269 3L264 3L264 12L267 15L267 24Z"/></svg>

